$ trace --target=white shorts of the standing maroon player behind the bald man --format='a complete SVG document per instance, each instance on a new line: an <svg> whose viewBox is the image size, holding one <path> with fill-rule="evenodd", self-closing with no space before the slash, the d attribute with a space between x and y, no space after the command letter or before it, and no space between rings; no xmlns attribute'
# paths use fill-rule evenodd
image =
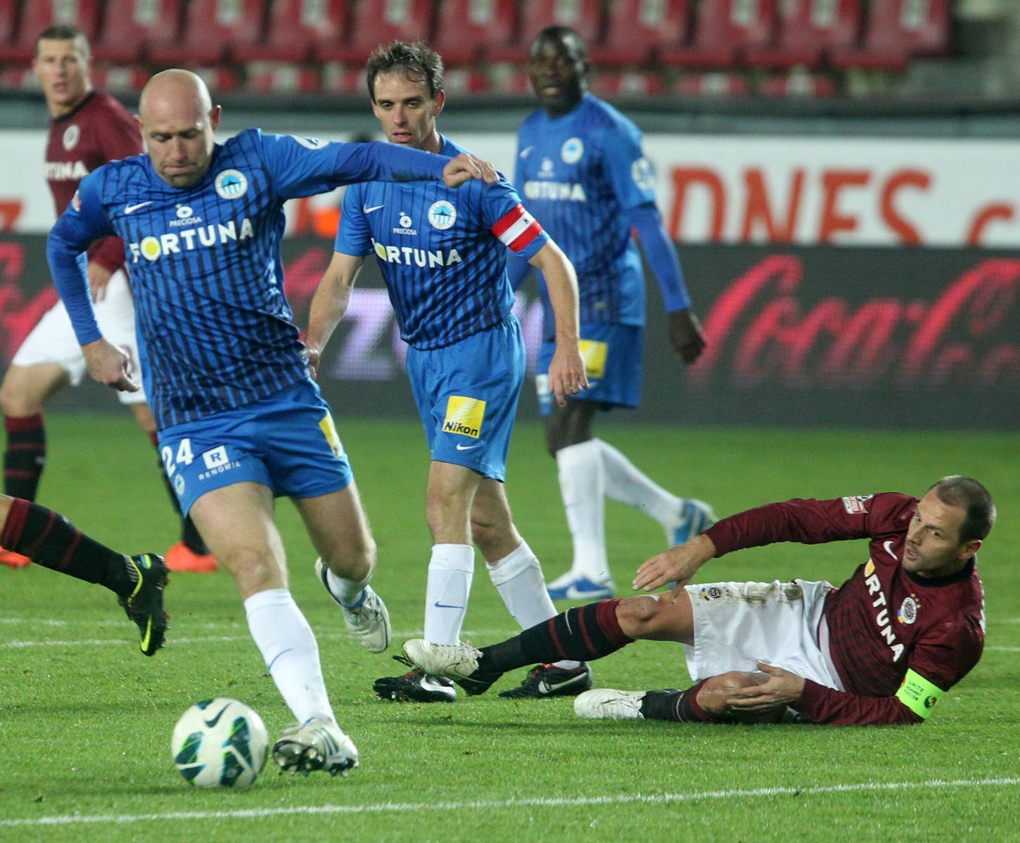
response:
<svg viewBox="0 0 1020 843"><path fill-rule="evenodd" d="M131 358L129 374L132 380L141 385L138 337L135 334L135 303L131 298L128 274L122 269L110 276L106 296L101 302L94 302L93 307L103 336ZM63 302L57 302L43 315L11 360L12 366L37 366L41 363L56 363L64 369L71 386L78 386L85 376L85 355L78 345L78 337ZM144 404L145 390L118 391L117 398L121 404Z"/></svg>

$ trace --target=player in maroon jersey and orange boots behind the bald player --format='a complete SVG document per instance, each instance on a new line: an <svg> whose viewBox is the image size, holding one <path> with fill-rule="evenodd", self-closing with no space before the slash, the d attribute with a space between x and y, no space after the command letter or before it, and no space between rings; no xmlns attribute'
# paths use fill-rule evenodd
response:
<svg viewBox="0 0 1020 843"><path fill-rule="evenodd" d="M74 27L54 24L36 39L32 66L51 115L45 173L58 216L83 176L107 161L143 152L141 133L128 110L108 94L93 90L89 62L89 42ZM124 248L118 238L106 238L89 250L89 284L96 315L106 336L123 349L138 371L135 307L123 264ZM7 494L35 500L46 461L43 405L68 383L81 383L85 368L67 312L57 303L17 350L0 384L0 409L7 431ZM155 445L156 425L145 393L139 389L117 396ZM176 496L171 490L169 493L176 510ZM184 520L182 540L166 557L174 571L216 570L215 559L190 519ZM0 548L0 563L19 568L28 565L29 559L11 548Z"/></svg>

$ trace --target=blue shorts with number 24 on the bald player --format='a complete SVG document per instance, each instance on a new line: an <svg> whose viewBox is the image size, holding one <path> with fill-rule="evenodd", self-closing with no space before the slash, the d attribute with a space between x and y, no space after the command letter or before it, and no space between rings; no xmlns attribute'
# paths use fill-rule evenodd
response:
<svg viewBox="0 0 1020 843"><path fill-rule="evenodd" d="M354 479L329 407L308 379L160 430L159 454L185 515L207 491L247 480L277 497L317 497Z"/></svg>

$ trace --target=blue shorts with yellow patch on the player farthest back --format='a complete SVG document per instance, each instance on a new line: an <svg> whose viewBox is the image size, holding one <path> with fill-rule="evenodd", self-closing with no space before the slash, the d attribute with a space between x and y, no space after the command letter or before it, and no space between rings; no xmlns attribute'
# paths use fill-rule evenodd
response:
<svg viewBox="0 0 1020 843"><path fill-rule="evenodd" d="M582 322L580 353L588 371L586 389L569 401L594 401L603 410L613 407L636 407L641 400L642 353L645 328L640 325L614 325L609 322ZM549 392L549 364L556 344L544 340L536 364L534 386L539 393L539 410L548 416L553 412L554 398Z"/></svg>

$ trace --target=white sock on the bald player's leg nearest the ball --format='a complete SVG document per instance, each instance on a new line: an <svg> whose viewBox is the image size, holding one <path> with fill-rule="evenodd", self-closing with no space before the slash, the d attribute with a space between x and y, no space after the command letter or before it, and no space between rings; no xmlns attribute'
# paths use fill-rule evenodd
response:
<svg viewBox="0 0 1020 843"><path fill-rule="evenodd" d="M286 588L270 588L245 600L248 629L287 706L298 723L335 721L325 692L315 635Z"/></svg>

